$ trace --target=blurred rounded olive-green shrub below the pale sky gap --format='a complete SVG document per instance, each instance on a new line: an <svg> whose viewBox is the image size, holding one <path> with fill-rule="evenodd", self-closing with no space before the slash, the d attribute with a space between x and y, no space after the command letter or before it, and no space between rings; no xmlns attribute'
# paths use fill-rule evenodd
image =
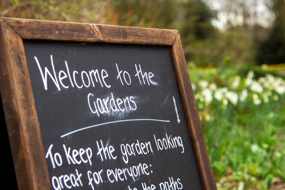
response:
<svg viewBox="0 0 285 190"><path fill-rule="evenodd" d="M256 54L251 31L243 27L235 27L231 30L219 31L205 40L193 40L190 46L184 47L184 52L191 55L191 62L197 66L211 67L221 66L220 60L229 57L228 66L236 63L254 63Z"/></svg>

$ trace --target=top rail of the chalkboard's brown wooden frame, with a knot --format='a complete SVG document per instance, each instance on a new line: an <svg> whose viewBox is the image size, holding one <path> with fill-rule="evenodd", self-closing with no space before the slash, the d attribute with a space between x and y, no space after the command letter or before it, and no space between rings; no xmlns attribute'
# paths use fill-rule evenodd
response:
<svg viewBox="0 0 285 190"><path fill-rule="evenodd" d="M2 18L22 39L172 46L177 30ZM52 27L51 27L52 26Z"/></svg>

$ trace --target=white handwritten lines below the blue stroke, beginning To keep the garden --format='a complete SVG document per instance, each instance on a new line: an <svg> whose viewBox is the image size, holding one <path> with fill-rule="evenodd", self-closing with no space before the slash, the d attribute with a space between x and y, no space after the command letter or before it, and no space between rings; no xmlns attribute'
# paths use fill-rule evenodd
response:
<svg viewBox="0 0 285 190"><path fill-rule="evenodd" d="M154 142L154 143L153 143ZM106 160L117 160L121 159L124 164L128 164L128 167L120 168L103 168L98 169L98 171L86 172L88 177L88 185L95 189L95 185L99 183L117 183L119 181L132 180L136 181L142 175L150 175L152 171L152 164L139 163L134 166L129 166L129 158L135 158L137 156L143 157L147 154L154 155L154 152L179 149L181 154L184 153L184 145L180 136L173 137L172 135L165 134L165 136L158 137L153 135L152 143L140 142L136 140L130 144L121 144L120 145L120 156L116 154L116 149L112 145L107 145L110 142L106 142L104 145L103 141L100 139L96 141L97 150L95 151L95 157L99 156L99 160L104 162ZM68 165L80 165L80 164L89 164L92 166L92 158L94 156L91 148L80 148L72 149L71 147L66 147L65 144L62 145L64 150L64 156L58 152L53 152L53 144L51 144L46 152L46 159L52 164L53 168L61 167L64 162ZM176 151L175 154L178 154ZM97 161L98 162L98 161ZM82 173L76 169L75 173L63 174L60 176L52 177L52 186L54 189L64 189L65 187L71 189L72 187L83 186L81 180ZM177 189L182 189L182 183L180 178L177 178L177 181L173 181L173 177L169 177L169 183L161 182L159 184L160 189L169 189L173 185ZM178 185L179 184L179 185ZM86 184L87 185L87 184ZM154 189L155 185L151 184L149 187L145 183L142 183L143 189ZM181 188L180 188L181 187ZM130 188L130 186L129 186ZM136 187L133 189L137 189Z"/></svg>

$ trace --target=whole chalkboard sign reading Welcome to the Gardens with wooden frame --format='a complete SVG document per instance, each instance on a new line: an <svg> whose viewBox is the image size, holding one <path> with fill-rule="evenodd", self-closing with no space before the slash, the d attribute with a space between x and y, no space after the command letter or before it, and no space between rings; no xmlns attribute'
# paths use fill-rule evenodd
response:
<svg viewBox="0 0 285 190"><path fill-rule="evenodd" d="M8 18L1 31L19 189L216 189L178 31Z"/></svg>

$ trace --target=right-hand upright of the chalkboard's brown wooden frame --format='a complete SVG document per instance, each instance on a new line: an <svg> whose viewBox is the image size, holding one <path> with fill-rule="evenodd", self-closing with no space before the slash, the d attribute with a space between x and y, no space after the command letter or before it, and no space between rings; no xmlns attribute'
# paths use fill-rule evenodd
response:
<svg viewBox="0 0 285 190"><path fill-rule="evenodd" d="M217 189L188 69L186 66L180 35L177 36L171 50L172 60L174 62L174 70L186 114L186 120L188 122L188 128L190 130L190 136L202 185L204 189Z"/></svg>

